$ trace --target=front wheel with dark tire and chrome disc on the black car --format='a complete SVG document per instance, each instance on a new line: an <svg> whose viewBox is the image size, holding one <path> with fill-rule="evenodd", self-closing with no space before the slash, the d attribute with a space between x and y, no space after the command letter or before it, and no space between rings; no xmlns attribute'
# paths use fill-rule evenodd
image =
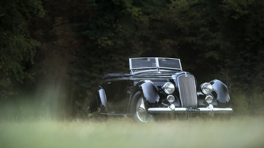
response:
<svg viewBox="0 0 264 148"><path fill-rule="evenodd" d="M148 113L145 108L144 100L140 92L134 94L131 104L131 113L133 120L136 122L150 122L153 115Z"/></svg>

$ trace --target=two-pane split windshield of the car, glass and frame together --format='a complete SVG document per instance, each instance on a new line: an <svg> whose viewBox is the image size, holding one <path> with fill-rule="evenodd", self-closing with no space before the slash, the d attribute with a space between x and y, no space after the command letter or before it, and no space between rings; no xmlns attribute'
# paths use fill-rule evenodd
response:
<svg viewBox="0 0 264 148"><path fill-rule="evenodd" d="M130 58L130 71L160 71L162 69L182 70L178 58Z"/></svg>

